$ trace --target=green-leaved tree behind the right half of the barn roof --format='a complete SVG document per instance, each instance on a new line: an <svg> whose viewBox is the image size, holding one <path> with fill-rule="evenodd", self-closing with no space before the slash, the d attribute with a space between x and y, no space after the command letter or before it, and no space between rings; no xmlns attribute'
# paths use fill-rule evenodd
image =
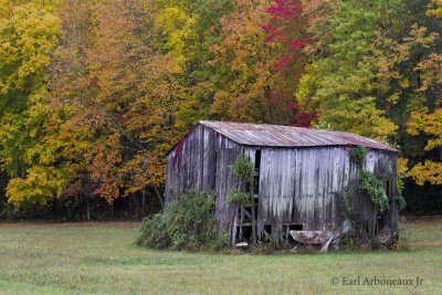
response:
<svg viewBox="0 0 442 295"><path fill-rule="evenodd" d="M313 23L324 18L316 15L315 9L312 11ZM322 49L312 63L315 66L305 73L315 85L299 84L308 88L303 92L308 97L304 95L302 99L316 105L320 109L319 122L329 123L333 129L367 136L392 134L397 127L376 105L371 84L376 69L367 60L385 8L377 0L339 1L330 11L333 14L325 17L328 19L325 24L307 29Z"/></svg>

